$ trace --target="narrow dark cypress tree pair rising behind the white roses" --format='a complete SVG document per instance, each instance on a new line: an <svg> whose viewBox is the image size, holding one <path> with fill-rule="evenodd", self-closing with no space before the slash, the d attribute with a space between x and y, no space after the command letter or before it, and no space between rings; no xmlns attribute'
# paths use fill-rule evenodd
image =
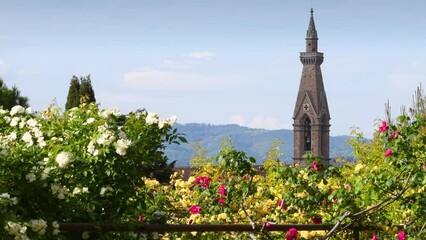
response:
<svg viewBox="0 0 426 240"><path fill-rule="evenodd" d="M78 107L81 103L96 103L90 75L80 78L72 76L65 110Z"/></svg>

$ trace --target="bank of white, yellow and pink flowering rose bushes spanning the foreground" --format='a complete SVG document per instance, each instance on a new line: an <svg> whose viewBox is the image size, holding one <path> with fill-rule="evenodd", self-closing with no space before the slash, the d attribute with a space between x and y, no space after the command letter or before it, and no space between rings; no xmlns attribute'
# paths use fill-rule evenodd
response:
<svg viewBox="0 0 426 240"><path fill-rule="evenodd" d="M425 100L420 95L417 102ZM285 165L276 143L256 168L255 159L228 140L216 158L200 149L189 179L175 173L170 181L159 169L171 167L165 146L186 142L172 129L175 117L160 120L145 110L123 116L95 104L65 113L51 107L40 115L20 106L1 110L0 237L81 238L58 235L52 221L61 221L238 223L254 230L160 234L164 239L284 239L289 233L269 231L271 225L311 223L334 227L300 231L298 239L349 239L353 227L372 227L378 239L425 239L426 108L415 106L382 121L371 141L354 133L354 163L323 166L306 155L304 166ZM361 235L371 238L371 231Z"/></svg>

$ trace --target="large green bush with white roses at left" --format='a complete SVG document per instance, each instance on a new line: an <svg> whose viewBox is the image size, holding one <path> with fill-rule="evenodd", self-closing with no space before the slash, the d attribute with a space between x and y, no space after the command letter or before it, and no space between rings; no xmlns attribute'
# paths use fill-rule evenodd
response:
<svg viewBox="0 0 426 240"><path fill-rule="evenodd" d="M186 142L175 121L94 104L0 109L0 239L81 239L58 222L136 222L143 177L168 181L164 149Z"/></svg>

